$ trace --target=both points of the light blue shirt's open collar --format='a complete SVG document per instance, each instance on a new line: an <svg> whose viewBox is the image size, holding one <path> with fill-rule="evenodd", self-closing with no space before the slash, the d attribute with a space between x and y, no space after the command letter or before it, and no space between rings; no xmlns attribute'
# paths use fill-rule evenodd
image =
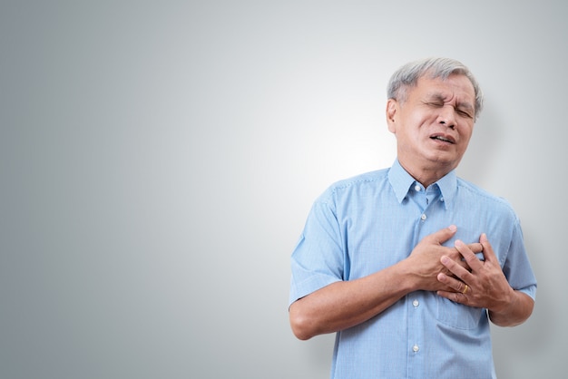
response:
<svg viewBox="0 0 568 379"><path fill-rule="evenodd" d="M388 180L392 186L397 200L399 203L406 198L406 194L410 187L416 181L406 170L400 165L400 162L395 160L392 167L388 171ZM455 192L457 191L457 177L455 176L455 170L451 170L446 174L446 176L438 181L436 181L438 188L444 199L444 205L448 209L452 201L455 198Z"/></svg>

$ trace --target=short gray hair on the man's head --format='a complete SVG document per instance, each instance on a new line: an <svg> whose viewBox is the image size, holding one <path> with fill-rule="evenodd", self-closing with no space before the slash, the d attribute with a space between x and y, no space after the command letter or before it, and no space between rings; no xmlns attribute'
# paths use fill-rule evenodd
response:
<svg viewBox="0 0 568 379"><path fill-rule="evenodd" d="M426 58L421 61L406 63L390 77L387 87L388 99L404 102L406 100L406 89L414 87L422 76L429 75L432 79L442 78L446 80L452 73L465 75L473 84L475 92L475 120L477 120L477 116L483 109L483 92L481 92L474 74L469 71L464 63L455 59Z"/></svg>

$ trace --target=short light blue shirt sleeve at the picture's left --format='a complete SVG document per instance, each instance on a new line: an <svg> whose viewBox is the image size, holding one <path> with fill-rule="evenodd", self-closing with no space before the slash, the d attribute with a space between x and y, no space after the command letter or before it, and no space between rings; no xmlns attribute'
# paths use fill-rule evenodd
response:
<svg viewBox="0 0 568 379"><path fill-rule="evenodd" d="M343 280L345 243L341 235L332 201L318 199L292 253L289 305Z"/></svg>

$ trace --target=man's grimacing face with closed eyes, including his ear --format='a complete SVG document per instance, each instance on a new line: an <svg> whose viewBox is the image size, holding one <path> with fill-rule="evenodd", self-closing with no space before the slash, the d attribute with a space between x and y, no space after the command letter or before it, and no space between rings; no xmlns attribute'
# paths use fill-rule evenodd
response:
<svg viewBox="0 0 568 379"><path fill-rule="evenodd" d="M398 160L416 179L427 172L441 178L455 169L471 138L474 118L474 86L465 75L422 77L406 89L406 99L387 102L388 130L397 136Z"/></svg>

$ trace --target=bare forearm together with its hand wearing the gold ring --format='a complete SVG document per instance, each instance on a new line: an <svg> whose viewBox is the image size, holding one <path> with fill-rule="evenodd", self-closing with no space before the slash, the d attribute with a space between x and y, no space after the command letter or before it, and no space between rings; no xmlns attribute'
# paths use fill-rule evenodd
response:
<svg viewBox="0 0 568 379"><path fill-rule="evenodd" d="M463 242L455 241L455 248L465 258L471 272L455 265L452 259L442 257L442 264L460 280L445 274L438 275L440 282L452 287L451 291L438 291L438 295L467 306L485 307L497 326L524 323L533 313L533 298L509 285L485 233L479 242L484 248L485 261L476 258ZM465 285L468 288L464 294Z"/></svg>

